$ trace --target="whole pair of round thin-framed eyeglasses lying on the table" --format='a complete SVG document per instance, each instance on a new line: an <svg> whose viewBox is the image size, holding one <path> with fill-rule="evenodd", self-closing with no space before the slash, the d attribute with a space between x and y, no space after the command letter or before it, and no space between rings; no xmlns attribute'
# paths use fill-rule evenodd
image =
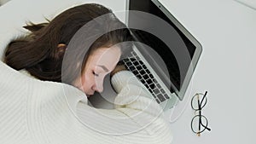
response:
<svg viewBox="0 0 256 144"><path fill-rule="evenodd" d="M191 107L199 114L196 114L194 118L191 120L191 130L198 136L205 130L211 131L208 128L208 120L205 116L201 114L201 110L207 104L207 91L205 94L197 93L192 97Z"/></svg>

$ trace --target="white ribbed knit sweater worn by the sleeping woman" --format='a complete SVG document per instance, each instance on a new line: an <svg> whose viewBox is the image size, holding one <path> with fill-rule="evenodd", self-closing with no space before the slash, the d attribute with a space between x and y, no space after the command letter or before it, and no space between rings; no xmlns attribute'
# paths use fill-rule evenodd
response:
<svg viewBox="0 0 256 144"><path fill-rule="evenodd" d="M115 109L96 109L67 84L40 81L0 61L0 144L171 143L160 107L131 72L112 78Z"/></svg>

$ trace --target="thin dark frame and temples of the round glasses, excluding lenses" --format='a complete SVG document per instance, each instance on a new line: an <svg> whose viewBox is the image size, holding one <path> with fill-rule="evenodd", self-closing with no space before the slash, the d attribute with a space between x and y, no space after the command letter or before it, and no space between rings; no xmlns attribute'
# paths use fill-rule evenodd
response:
<svg viewBox="0 0 256 144"><path fill-rule="evenodd" d="M203 95L201 101L200 101L200 99L199 99L199 95ZM197 98L198 108L193 107L193 101L194 101L195 98ZM204 103L204 105L202 105L202 103L203 103L204 100L205 100L206 102ZM207 119L204 115L201 114L201 110L202 110L203 107L206 106L206 104L207 104L207 91L205 92L205 94L196 93L196 94L192 97L192 99L191 99L191 107L195 110L195 112L197 112L197 111L199 112L199 114L195 115L195 117L193 117L192 120L191 120L191 130L192 130L196 135L198 135L198 136L200 136L201 133L202 133L203 131L205 131L205 130L211 131L211 129L207 127L207 126L208 126L208 119ZM193 126L192 126L192 125L193 125L193 122L194 122L195 118L197 118L197 117L199 117L199 125L198 125L198 131L195 131L195 130L193 129ZM204 119L206 120L207 124L202 124L202 118L204 118ZM202 130L201 130L201 126L203 127Z"/></svg>

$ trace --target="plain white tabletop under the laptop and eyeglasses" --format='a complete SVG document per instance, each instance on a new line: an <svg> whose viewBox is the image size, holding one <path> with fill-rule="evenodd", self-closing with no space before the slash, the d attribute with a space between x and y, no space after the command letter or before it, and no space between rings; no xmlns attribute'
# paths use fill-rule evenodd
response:
<svg viewBox="0 0 256 144"><path fill-rule="evenodd" d="M44 22L77 3L102 3L125 10L125 0L11 0L0 7L0 48L22 32L25 22ZM177 107L174 144L254 144L256 130L256 10L232 0L160 0L202 44L186 99ZM0 50L0 56L3 50ZM190 130L191 95L208 91L203 114L211 132L197 137ZM184 110L184 112L182 111ZM182 113L181 113L182 112Z"/></svg>

